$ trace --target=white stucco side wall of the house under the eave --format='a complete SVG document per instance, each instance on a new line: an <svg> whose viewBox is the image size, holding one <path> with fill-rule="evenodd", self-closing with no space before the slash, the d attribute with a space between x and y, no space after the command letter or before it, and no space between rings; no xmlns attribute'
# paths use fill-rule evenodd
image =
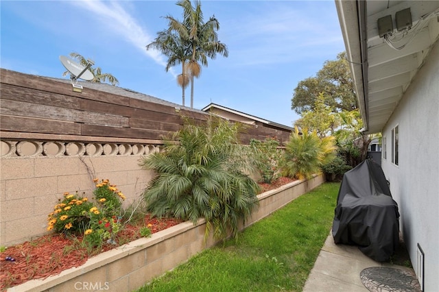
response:
<svg viewBox="0 0 439 292"><path fill-rule="evenodd" d="M399 165L391 131L399 125ZM383 171L399 205L401 232L416 270L416 247L425 253L424 291L438 291L439 276L439 43L431 50L383 129Z"/></svg>

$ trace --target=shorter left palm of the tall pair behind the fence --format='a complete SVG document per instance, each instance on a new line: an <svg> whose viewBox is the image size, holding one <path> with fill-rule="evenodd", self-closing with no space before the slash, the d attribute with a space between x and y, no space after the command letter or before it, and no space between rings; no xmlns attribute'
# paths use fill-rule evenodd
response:
<svg viewBox="0 0 439 292"><path fill-rule="evenodd" d="M177 77L177 83L182 88L182 106L185 106L185 88L189 84L189 75L185 68L188 60L187 43L185 43L185 31L180 32L174 27L180 24L172 16L165 17L169 21L169 28L157 33L157 37L146 46L146 49L156 49L167 56L166 72L171 66L182 64L182 73Z"/></svg>

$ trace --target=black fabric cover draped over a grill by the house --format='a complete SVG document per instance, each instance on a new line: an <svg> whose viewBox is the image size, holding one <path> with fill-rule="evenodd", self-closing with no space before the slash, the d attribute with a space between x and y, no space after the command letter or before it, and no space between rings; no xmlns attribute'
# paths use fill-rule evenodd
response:
<svg viewBox="0 0 439 292"><path fill-rule="evenodd" d="M332 226L335 243L359 245L366 256L384 262L399 245L398 204L381 167L367 159L344 173Z"/></svg>

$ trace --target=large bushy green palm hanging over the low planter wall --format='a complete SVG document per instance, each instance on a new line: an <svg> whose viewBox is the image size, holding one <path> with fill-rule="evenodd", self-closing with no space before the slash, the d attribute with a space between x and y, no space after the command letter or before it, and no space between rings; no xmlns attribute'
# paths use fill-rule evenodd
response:
<svg viewBox="0 0 439 292"><path fill-rule="evenodd" d="M217 238L228 231L237 236L240 221L259 204L259 185L244 174L251 156L248 147L239 145L239 130L239 124L214 117L202 126L186 120L165 139L164 151L141 162L144 169L156 171L144 191L148 211L194 224L204 217L206 238L212 228Z"/></svg>

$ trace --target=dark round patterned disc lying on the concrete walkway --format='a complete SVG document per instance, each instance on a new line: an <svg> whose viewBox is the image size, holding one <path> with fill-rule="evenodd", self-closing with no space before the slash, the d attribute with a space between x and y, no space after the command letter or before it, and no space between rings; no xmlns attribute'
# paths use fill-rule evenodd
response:
<svg viewBox="0 0 439 292"><path fill-rule="evenodd" d="M372 292L421 291L414 273L389 267L369 267L359 273L361 282Z"/></svg>

